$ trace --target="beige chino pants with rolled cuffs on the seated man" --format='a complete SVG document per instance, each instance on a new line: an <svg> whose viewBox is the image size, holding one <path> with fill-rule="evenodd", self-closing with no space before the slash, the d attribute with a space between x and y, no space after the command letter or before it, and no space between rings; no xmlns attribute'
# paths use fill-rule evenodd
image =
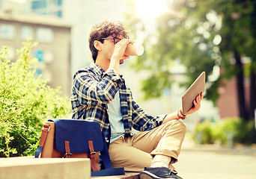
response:
<svg viewBox="0 0 256 179"><path fill-rule="evenodd" d="M150 131L122 136L109 145L112 166L140 172L151 165L153 156L162 154L171 157L169 168L174 169L171 164L177 162L185 134L186 125L174 119Z"/></svg>

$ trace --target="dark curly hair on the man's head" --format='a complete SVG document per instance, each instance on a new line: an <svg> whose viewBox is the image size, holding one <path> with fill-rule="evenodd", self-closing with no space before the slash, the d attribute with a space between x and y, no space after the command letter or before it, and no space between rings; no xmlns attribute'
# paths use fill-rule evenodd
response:
<svg viewBox="0 0 256 179"><path fill-rule="evenodd" d="M120 35L122 35L124 38L129 38L127 34L128 31L125 30L124 25L121 22L104 21L100 24L94 25L91 29L89 37L89 46L94 62L96 61L98 55L98 51L94 47L94 40L106 38L110 35L112 35L113 37L119 37ZM103 40L100 40L100 42L103 43Z"/></svg>

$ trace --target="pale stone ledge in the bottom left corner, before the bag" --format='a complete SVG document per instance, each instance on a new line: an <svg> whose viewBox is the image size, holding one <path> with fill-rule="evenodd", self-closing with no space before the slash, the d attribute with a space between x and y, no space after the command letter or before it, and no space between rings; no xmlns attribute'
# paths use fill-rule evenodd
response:
<svg viewBox="0 0 256 179"><path fill-rule="evenodd" d="M89 179L91 163L85 158L32 158L0 159L0 179Z"/></svg>

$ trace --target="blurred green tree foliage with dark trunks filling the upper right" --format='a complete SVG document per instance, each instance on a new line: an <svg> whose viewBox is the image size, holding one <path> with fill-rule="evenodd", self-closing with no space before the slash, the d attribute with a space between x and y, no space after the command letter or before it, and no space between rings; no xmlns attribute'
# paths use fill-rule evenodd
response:
<svg viewBox="0 0 256 179"><path fill-rule="evenodd" d="M216 103L222 79L237 76L240 117L246 110L243 78L251 76L251 119L255 109L256 1L249 0L174 0L169 11L156 19L156 30L144 39L147 53L133 63L150 76L142 81L147 98L159 97L171 84L171 66L186 66L186 87L202 72L207 74L206 98ZM133 18L135 19L135 18ZM132 28L144 27L143 19L129 18ZM134 25L135 24L135 25ZM139 24L139 25L138 25ZM136 29L144 31L144 28ZM153 39L153 40L152 40ZM150 44L150 45L149 45ZM243 59L249 59L243 63ZM222 75L218 75L223 69ZM244 108L244 109L243 109Z"/></svg>

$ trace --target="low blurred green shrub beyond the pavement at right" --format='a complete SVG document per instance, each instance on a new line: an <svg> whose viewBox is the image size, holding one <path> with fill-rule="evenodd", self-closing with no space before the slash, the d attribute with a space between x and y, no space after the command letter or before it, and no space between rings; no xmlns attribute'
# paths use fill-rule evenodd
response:
<svg viewBox="0 0 256 179"><path fill-rule="evenodd" d="M199 139L198 139L199 136ZM195 142L212 144L219 142L222 145L235 143L252 144L255 142L255 124L244 122L240 118L225 118L218 122L204 121L195 127L192 134Z"/></svg>

